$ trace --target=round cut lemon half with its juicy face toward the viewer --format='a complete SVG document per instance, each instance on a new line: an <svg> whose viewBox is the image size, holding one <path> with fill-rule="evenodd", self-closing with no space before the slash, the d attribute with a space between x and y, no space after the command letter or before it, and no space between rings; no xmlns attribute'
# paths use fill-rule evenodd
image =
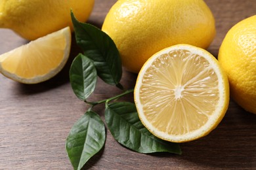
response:
<svg viewBox="0 0 256 170"><path fill-rule="evenodd" d="M228 79L202 48L179 44L154 54L140 70L135 104L144 126L160 139L199 139L223 119Z"/></svg>

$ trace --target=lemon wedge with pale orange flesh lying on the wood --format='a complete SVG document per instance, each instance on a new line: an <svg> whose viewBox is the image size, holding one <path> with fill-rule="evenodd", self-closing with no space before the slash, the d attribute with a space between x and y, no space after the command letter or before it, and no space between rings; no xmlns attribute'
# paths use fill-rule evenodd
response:
<svg viewBox="0 0 256 170"><path fill-rule="evenodd" d="M66 64L71 32L65 27L0 56L0 72L24 84L49 80Z"/></svg>

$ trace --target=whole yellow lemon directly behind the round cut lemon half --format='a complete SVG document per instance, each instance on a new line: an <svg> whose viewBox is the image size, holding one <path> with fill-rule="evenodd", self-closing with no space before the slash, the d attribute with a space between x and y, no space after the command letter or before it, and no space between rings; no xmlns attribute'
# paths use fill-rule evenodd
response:
<svg viewBox="0 0 256 170"><path fill-rule="evenodd" d="M168 46L207 48L215 37L215 19L203 0L119 0L102 31L116 43L123 66L138 73L150 56Z"/></svg>

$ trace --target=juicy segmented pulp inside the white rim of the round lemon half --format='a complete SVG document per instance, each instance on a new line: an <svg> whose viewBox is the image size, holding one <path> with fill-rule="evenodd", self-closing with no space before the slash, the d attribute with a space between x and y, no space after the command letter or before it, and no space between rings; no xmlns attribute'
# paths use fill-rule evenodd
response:
<svg viewBox="0 0 256 170"><path fill-rule="evenodd" d="M198 129L219 101L217 79L209 62L201 56L182 50L161 55L146 71L140 91L146 117L169 134L182 135ZM191 119L194 121L188 121ZM173 126L174 122L179 126Z"/></svg>

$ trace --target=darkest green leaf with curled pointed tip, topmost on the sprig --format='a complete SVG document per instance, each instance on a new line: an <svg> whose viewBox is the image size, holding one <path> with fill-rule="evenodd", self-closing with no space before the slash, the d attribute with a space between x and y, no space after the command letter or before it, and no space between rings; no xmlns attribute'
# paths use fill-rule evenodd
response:
<svg viewBox="0 0 256 170"><path fill-rule="evenodd" d="M71 16L77 45L93 60L98 76L108 84L119 84L121 58L114 41L97 27L77 21L73 12Z"/></svg>

